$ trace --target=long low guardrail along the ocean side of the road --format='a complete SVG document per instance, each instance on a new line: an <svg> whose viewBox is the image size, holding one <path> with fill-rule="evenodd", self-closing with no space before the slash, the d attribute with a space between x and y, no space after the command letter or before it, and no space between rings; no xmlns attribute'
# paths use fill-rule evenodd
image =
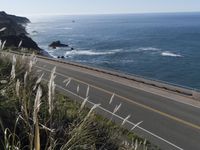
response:
<svg viewBox="0 0 200 150"><path fill-rule="evenodd" d="M14 52L14 51L8 51L8 52L12 53L12 54L17 54L17 55L23 55L23 54L26 56L31 55L30 53L22 54L22 53ZM45 59L45 60L49 60L49 61L56 61L56 62L63 63L63 64L68 64L68 65L72 65L72 66L76 66L76 67L80 67L80 68L85 68L85 69L105 73L108 75L113 75L116 77L136 81L136 82L143 83L146 85L162 88L162 89L165 89L168 91L184 94L187 96L193 96L194 92L198 92L198 93L200 92L199 89L194 89L194 88L190 88L187 86L182 86L182 85L169 83L169 82L165 82L165 81L161 81L161 80L147 78L147 77L143 77L143 76L139 76L139 75L135 75L135 74L122 73L120 71L116 71L116 70L112 70L112 69L107 70L107 68L105 69L105 68L101 68L101 67L96 68L96 67L87 66L87 65L83 65L83 64L79 64L79 63L75 63L75 62L71 62L71 61L64 61L61 59L50 58L50 57L41 56L41 55L36 55L36 56L41 59Z"/></svg>

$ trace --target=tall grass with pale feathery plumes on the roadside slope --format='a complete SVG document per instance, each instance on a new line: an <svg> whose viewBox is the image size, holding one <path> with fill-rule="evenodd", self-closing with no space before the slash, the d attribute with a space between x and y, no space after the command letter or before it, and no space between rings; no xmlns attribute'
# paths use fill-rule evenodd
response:
<svg viewBox="0 0 200 150"><path fill-rule="evenodd" d="M19 60L23 60L24 63ZM89 86L85 100L77 104L55 90L56 68L48 77L48 84L42 82L45 76L43 73L36 78L33 73L36 60L34 55L28 60L13 57L8 61L5 56L0 59L0 81L7 81L6 84L0 84L0 91L4 91L4 94L0 94L0 149L147 148L146 141L137 136L132 136L134 138L132 141L125 142L125 137L130 132L96 115L94 110L100 104L95 104L91 109L86 107ZM64 81L66 86L70 82L71 78ZM77 93L79 91L80 88L77 86ZM113 98L114 94L111 102ZM120 107L121 104L117 105L113 113ZM124 119L122 125L129 117Z"/></svg>

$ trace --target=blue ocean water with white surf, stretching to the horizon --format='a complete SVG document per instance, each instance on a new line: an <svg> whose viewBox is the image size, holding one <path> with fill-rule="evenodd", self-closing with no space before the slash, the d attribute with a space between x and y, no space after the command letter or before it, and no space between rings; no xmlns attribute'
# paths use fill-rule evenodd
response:
<svg viewBox="0 0 200 150"><path fill-rule="evenodd" d="M30 19L30 36L54 57L200 89L200 13ZM55 40L74 50L48 48Z"/></svg>

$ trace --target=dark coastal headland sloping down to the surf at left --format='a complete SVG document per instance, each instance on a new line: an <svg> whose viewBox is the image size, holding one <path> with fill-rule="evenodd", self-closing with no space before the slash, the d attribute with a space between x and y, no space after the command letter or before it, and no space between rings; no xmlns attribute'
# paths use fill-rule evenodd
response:
<svg viewBox="0 0 200 150"><path fill-rule="evenodd" d="M37 54L51 57L45 50L31 38L27 32L27 25L31 21L26 17L15 16L0 11L0 45L2 49L11 49L13 51L36 52ZM4 43L4 44L3 44Z"/></svg>

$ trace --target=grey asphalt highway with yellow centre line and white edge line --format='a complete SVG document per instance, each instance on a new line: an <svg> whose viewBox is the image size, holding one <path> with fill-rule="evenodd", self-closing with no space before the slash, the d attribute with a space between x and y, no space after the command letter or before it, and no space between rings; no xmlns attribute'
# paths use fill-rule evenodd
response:
<svg viewBox="0 0 200 150"><path fill-rule="evenodd" d="M121 104L113 116L116 123L121 124L122 119L130 115L124 127L130 130L143 121L133 132L161 149L200 150L200 102L192 95L42 57L34 65L34 72L37 75L45 73L44 80L48 81L55 66L59 91L83 100L89 86L89 102L101 104L97 109L101 115L111 118L114 108ZM63 81L69 77L72 80L66 87Z"/></svg>

